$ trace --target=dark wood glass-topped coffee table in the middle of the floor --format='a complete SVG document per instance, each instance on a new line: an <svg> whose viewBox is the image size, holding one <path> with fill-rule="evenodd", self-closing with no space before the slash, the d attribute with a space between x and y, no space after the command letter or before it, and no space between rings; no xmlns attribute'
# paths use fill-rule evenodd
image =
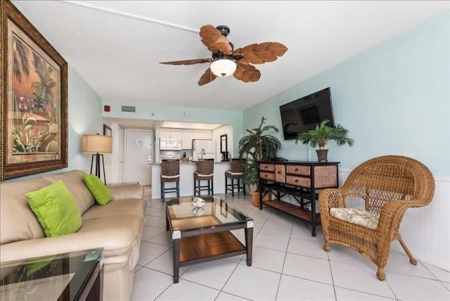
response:
<svg viewBox="0 0 450 301"><path fill-rule="evenodd" d="M166 227L172 233L174 283L179 268L245 254L252 265L253 219L217 196L203 196L205 205L195 207L194 197L166 202ZM244 229L245 245L231 230Z"/></svg>

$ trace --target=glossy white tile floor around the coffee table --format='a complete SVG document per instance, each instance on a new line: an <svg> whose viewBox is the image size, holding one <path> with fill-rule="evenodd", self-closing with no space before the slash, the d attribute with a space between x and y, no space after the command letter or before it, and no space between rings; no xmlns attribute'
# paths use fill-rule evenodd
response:
<svg viewBox="0 0 450 301"><path fill-rule="evenodd" d="M219 195L254 219L252 267L244 255L180 269L172 278L172 245L165 231L164 204L150 200L132 300L450 300L450 272L430 264L409 263L397 242L378 281L376 267L358 252L332 245L322 249L318 228L270 208L259 210L251 198ZM243 240L243 230L236 231ZM407 242L406 242L407 243Z"/></svg>

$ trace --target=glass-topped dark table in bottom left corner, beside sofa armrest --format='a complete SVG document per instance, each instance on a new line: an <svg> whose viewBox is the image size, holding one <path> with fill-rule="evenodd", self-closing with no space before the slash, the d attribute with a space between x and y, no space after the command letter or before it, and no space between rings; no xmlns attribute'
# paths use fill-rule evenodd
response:
<svg viewBox="0 0 450 301"><path fill-rule="evenodd" d="M103 249L0 264L0 300L102 300Z"/></svg>

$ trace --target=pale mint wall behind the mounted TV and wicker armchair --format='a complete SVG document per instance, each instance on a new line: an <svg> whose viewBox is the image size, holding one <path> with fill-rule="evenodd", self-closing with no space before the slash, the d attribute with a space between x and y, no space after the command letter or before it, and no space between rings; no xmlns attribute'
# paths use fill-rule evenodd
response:
<svg viewBox="0 0 450 301"><path fill-rule="evenodd" d="M329 143L328 160L353 169L379 155L406 155L435 177L450 176L450 14L447 11L244 112L281 129L279 105L330 87L335 122L355 145ZM314 150L284 141L279 155L316 160Z"/></svg>

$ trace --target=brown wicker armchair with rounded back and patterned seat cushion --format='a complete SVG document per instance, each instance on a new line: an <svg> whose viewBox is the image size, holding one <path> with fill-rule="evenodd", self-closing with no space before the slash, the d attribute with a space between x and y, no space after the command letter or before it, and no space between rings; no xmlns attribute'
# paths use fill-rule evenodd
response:
<svg viewBox="0 0 450 301"><path fill-rule="evenodd" d="M401 219L406 209L428 205L434 191L430 170L414 159L387 155L364 162L349 174L342 188L323 189L319 194L323 249L330 251L330 243L353 248L377 265L381 281L386 278L394 240L416 265L399 233ZM365 210L349 212L350 199L364 200Z"/></svg>

